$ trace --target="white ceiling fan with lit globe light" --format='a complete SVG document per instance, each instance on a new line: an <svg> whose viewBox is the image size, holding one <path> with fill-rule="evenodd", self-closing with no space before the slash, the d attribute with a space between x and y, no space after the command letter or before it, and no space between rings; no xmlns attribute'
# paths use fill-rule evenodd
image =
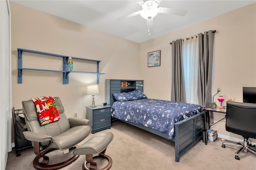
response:
<svg viewBox="0 0 256 170"><path fill-rule="evenodd" d="M172 15L178 15L178 16L184 16L188 12L187 10L180 10L180 9L174 9L174 8L165 8L165 7L159 7L157 6L162 2L161 0L140 0L137 1L138 4L142 6L142 10L139 10L137 12L133 12L132 14L128 14L126 16L122 16L118 18L118 21L125 20L127 18L131 18L133 16L136 16L140 14L142 18L145 18L147 20L147 26L148 26L148 33L150 35L150 27L153 26L153 18L158 14L172 14Z"/></svg>

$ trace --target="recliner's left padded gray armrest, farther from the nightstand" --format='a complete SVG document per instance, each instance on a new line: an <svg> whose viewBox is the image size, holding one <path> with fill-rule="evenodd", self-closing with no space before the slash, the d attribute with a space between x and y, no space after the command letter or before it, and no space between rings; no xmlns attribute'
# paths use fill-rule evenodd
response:
<svg viewBox="0 0 256 170"><path fill-rule="evenodd" d="M24 137L28 140L28 141L33 141L33 142L48 142L48 141L52 141L52 137L49 135L44 135L41 133L35 133L35 132L31 132L31 131L24 131L23 132Z"/></svg>

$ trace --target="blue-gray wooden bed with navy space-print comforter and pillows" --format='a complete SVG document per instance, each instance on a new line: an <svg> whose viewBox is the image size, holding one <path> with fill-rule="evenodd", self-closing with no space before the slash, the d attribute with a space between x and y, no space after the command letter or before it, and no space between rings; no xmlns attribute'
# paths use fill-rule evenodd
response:
<svg viewBox="0 0 256 170"><path fill-rule="evenodd" d="M176 162L202 139L205 120L201 106L149 99L143 89L127 88L126 92L119 92L106 86L106 90L110 90L106 94L113 98L108 103L112 106L112 117L174 141Z"/></svg>

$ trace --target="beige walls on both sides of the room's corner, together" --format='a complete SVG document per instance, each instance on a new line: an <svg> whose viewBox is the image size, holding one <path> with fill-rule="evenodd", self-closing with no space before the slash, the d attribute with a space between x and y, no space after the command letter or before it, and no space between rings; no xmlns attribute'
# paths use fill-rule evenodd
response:
<svg viewBox="0 0 256 170"><path fill-rule="evenodd" d="M134 43L62 18L10 2L12 12L12 105L35 96L59 96L68 117L78 111L85 117L85 107L92 98L86 86L96 84L96 75L70 74L69 84L62 84L62 74L24 70L22 84L17 82L17 48L101 60L99 94L95 104L105 101L105 79L142 79L149 98L170 100L170 42L200 32L214 30L213 91L220 87L224 98L242 102L242 86L256 86L256 4L190 25L144 43ZM148 52L161 50L161 66L148 67ZM61 61L26 55L24 66L62 68ZM91 64L74 63L74 70L95 71ZM86 70L89 69L89 70ZM51 86L49 86L49 84ZM214 119L223 115L214 114ZM225 131L225 123L214 126L219 134L237 137Z"/></svg>

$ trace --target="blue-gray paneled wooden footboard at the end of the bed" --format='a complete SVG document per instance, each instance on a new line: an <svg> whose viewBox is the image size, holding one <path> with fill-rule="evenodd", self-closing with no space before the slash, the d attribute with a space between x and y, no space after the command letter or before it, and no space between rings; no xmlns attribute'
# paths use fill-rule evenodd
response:
<svg viewBox="0 0 256 170"><path fill-rule="evenodd" d="M180 156L202 139L205 129L204 112L184 119L174 124L175 161L180 161Z"/></svg>

